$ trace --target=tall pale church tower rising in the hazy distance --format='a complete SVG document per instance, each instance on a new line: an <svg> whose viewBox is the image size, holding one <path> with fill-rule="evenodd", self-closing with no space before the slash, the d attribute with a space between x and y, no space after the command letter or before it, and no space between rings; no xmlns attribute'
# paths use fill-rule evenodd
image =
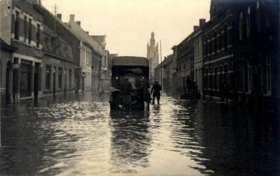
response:
<svg viewBox="0 0 280 176"><path fill-rule="evenodd" d="M153 83L155 77L155 67L159 64L158 43L155 46L155 34L152 32L150 45L147 44L147 58L150 62L150 82Z"/></svg>

